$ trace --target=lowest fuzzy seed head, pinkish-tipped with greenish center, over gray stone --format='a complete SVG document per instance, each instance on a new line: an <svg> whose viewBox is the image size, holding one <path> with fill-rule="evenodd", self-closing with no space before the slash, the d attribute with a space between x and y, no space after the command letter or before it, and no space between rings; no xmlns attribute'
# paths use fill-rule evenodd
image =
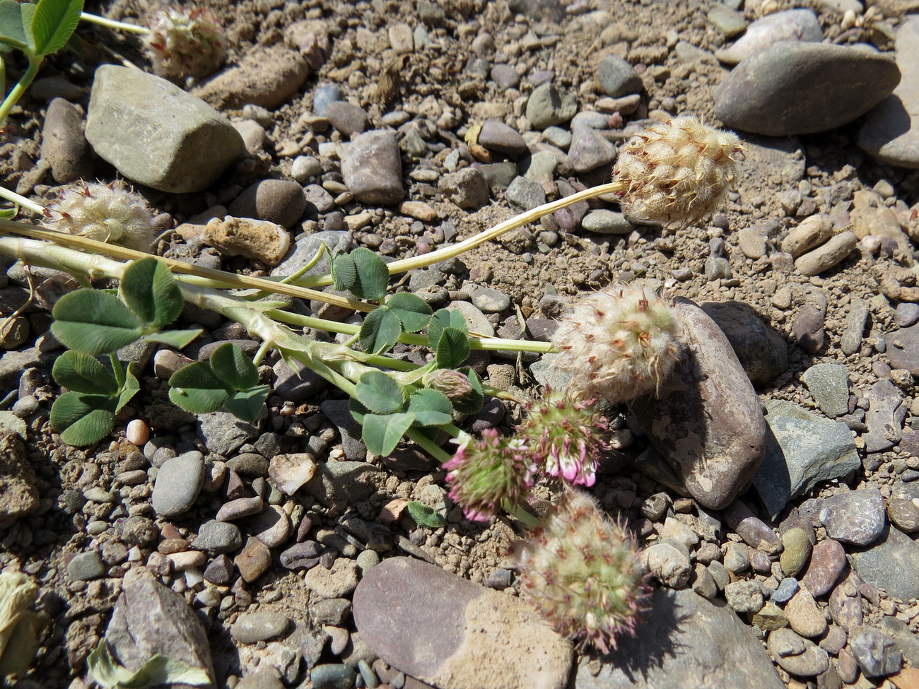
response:
<svg viewBox="0 0 919 689"><path fill-rule="evenodd" d="M650 592L639 552L621 525L608 521L583 492L562 502L520 548L520 592L562 636L607 653L635 636Z"/></svg>

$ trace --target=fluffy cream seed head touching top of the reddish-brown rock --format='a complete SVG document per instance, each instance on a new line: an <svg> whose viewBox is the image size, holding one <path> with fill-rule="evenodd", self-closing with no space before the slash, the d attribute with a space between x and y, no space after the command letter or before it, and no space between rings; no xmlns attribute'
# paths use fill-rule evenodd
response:
<svg viewBox="0 0 919 689"><path fill-rule="evenodd" d="M555 364L573 373L574 399L628 401L657 390L679 352L669 303L651 288L608 286L565 314L552 337Z"/></svg>

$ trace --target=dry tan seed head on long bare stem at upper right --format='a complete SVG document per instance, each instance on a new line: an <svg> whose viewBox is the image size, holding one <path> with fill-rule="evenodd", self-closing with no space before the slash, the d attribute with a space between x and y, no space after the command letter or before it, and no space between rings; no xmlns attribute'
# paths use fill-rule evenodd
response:
<svg viewBox="0 0 919 689"><path fill-rule="evenodd" d="M731 132L681 115L633 136L613 178L628 185L622 209L632 220L686 227L706 220L731 190L743 151Z"/></svg>

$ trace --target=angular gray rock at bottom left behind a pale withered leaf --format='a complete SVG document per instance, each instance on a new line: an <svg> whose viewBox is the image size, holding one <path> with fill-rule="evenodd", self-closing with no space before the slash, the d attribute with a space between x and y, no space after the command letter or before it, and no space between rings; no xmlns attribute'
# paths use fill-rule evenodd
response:
<svg viewBox="0 0 919 689"><path fill-rule="evenodd" d="M201 668L213 680L208 634L185 601L143 567L129 570L121 582L121 594L106 629L106 640L115 659L129 670L138 670L162 653L174 661ZM169 686L190 689L183 683Z"/></svg>

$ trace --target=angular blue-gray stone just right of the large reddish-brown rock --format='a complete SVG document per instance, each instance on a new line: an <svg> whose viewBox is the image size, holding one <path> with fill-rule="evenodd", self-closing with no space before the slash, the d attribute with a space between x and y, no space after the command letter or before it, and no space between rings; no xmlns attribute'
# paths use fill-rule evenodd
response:
<svg viewBox="0 0 919 689"><path fill-rule="evenodd" d="M861 466L852 432L787 401L766 403L766 456L754 486L775 519L792 498Z"/></svg>

